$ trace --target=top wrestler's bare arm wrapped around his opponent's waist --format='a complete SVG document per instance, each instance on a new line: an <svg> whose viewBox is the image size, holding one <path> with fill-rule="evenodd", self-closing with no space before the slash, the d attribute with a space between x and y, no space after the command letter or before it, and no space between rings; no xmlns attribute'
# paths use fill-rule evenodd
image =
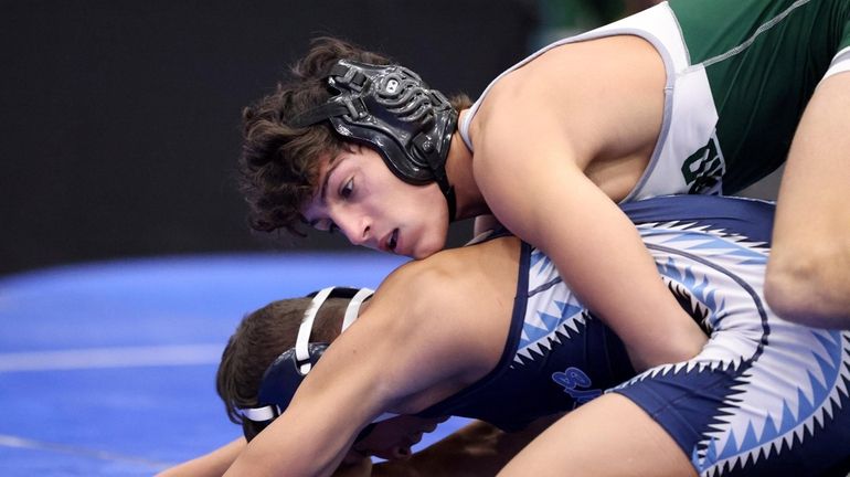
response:
<svg viewBox="0 0 850 477"><path fill-rule="evenodd" d="M610 78L605 87L588 84L601 78L567 87L565 76L552 82L555 93L528 84L528 76L497 84L502 91L495 88L496 103L479 110L474 137L480 192L504 226L552 258L571 289L623 339L636 368L689 359L703 333L663 286L634 224L583 169L594 158L651 146L655 129L636 119L651 108L623 102L627 92L614 89Z"/></svg>

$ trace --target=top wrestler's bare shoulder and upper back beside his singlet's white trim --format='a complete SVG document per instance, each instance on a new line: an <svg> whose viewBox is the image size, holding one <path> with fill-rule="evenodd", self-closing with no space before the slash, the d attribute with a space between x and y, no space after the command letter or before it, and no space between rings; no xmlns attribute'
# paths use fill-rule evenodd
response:
<svg viewBox="0 0 850 477"><path fill-rule="evenodd" d="M665 82L661 56L638 36L553 47L491 87L470 125L475 160L555 151L585 169L627 155L657 138Z"/></svg>

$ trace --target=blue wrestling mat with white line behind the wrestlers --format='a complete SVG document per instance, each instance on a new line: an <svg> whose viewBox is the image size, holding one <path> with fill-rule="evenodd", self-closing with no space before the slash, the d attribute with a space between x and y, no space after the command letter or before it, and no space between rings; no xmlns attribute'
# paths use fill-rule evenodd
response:
<svg viewBox="0 0 850 477"><path fill-rule="evenodd" d="M149 476L232 441L241 427L215 370L243 315L329 285L375 287L403 262L164 257L0 278L0 475Z"/></svg>

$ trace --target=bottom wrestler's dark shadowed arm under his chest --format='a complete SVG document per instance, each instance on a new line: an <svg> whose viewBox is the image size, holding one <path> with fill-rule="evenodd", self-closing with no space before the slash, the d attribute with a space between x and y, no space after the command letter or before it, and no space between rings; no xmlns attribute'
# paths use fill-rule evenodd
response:
<svg viewBox="0 0 850 477"><path fill-rule="evenodd" d="M514 433L475 421L407 460L375 465L372 476L493 476L560 416L541 417Z"/></svg>

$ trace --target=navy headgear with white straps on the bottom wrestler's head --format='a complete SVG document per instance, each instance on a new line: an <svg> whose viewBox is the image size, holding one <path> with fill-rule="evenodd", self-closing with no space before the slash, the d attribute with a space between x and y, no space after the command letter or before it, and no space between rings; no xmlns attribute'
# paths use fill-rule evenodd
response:
<svg viewBox="0 0 850 477"><path fill-rule="evenodd" d="M312 303L310 303L310 306L304 314L304 320L298 328L295 347L284 351L266 369L257 393L257 402L259 404L255 407L240 410L243 417L242 428L246 439L251 441L254 438L272 421L286 411L301 381L304 381L304 378L316 365L328 348L328 343L310 342L312 324L322 304L328 298L349 298L346 316L342 319L342 331L344 331L354 322L360 311L360 306L366 298L372 296L372 293L369 288L329 287L308 295L312 297ZM374 423L394 416L395 414L386 413L379 416ZM370 430L371 425L366 426L358 436L358 441L364 437Z"/></svg>

